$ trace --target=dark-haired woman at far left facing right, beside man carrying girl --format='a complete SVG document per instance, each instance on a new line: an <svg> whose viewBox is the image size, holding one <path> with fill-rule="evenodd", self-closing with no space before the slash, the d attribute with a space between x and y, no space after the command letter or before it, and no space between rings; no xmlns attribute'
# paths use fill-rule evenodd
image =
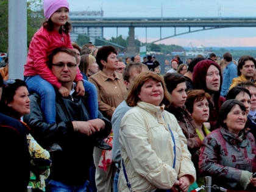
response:
<svg viewBox="0 0 256 192"><path fill-rule="evenodd" d="M5 84L6 85L3 88L0 112L21 121L23 115L30 113L30 99L27 85L20 79L7 80ZM21 123L23 122L21 121ZM41 148L32 135L30 135L30 128L26 124L24 125L24 127L27 127L27 145L29 147L31 158L30 166L32 169L32 172L30 173L29 186L35 188L35 190L41 191L44 190L46 186L44 179L47 179L50 174L50 154L45 149Z"/></svg>

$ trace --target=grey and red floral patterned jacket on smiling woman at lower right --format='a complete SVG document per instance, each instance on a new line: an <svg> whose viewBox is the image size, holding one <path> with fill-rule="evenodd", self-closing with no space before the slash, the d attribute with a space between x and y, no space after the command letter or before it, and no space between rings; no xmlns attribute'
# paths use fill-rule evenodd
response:
<svg viewBox="0 0 256 192"><path fill-rule="evenodd" d="M235 137L223 127L204 138L199 156L199 171L213 177L213 184L240 190L242 170L255 172L255 139L252 133L242 130Z"/></svg>

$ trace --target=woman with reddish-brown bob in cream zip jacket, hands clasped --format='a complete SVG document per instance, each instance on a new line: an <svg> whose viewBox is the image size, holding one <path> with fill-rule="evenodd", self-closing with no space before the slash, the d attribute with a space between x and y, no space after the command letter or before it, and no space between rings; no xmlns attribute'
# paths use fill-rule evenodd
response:
<svg viewBox="0 0 256 192"><path fill-rule="evenodd" d="M176 118L164 110L170 100L163 77L141 73L126 102L133 108L124 115L119 132L123 166L118 191L154 192L175 187L187 192L196 180L196 171Z"/></svg>

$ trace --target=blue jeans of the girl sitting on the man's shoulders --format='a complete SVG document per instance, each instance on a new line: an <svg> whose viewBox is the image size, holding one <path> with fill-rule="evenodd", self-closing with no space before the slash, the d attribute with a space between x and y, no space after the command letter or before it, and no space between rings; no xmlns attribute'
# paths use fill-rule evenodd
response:
<svg viewBox="0 0 256 192"><path fill-rule="evenodd" d="M44 113L46 122L55 123L55 91L54 87L47 81L38 76L24 77L30 93L37 93L41 98L41 110ZM85 98L88 104L88 112L91 119L98 118L98 94L95 85L84 80Z"/></svg>

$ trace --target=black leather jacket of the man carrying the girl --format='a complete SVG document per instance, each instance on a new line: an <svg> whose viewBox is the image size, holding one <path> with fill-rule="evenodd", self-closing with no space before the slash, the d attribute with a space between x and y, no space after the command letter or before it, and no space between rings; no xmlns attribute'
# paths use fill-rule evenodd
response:
<svg viewBox="0 0 256 192"><path fill-rule="evenodd" d="M72 121L88 121L85 98L73 96L63 98L55 90L56 123L46 123L40 108L40 96L30 96L30 114L24 121L31 127L32 135L45 149L52 144L59 144L62 150L50 151L52 166L49 179L67 185L80 185L88 180L89 167L93 158L94 140L107 137L111 131L111 123L99 112L98 118L105 122L105 129L90 135L74 132Z"/></svg>

